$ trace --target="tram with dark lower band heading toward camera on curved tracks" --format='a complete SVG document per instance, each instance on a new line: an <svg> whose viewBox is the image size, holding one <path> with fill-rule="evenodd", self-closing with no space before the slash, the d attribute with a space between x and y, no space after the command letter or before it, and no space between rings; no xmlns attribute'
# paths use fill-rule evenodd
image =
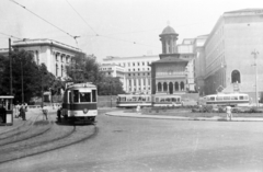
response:
<svg viewBox="0 0 263 172"><path fill-rule="evenodd" d="M61 115L72 122L95 122L98 115L96 87L90 82L70 83L62 98Z"/></svg>

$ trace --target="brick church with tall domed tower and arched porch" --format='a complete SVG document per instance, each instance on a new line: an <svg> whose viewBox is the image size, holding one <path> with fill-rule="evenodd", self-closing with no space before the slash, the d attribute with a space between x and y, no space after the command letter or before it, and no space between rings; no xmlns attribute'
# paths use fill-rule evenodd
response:
<svg viewBox="0 0 263 172"><path fill-rule="evenodd" d="M159 35L162 44L160 60L151 64L151 93L179 94L186 92L185 67L188 60L180 58L178 53L178 35L171 26L167 26Z"/></svg>

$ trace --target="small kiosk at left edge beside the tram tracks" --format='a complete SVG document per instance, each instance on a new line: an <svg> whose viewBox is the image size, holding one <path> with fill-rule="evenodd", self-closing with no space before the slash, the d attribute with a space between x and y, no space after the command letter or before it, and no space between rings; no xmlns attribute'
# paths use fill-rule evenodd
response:
<svg viewBox="0 0 263 172"><path fill-rule="evenodd" d="M0 104L5 108L5 116L0 114L0 125L13 125L13 98L12 95L0 95Z"/></svg>

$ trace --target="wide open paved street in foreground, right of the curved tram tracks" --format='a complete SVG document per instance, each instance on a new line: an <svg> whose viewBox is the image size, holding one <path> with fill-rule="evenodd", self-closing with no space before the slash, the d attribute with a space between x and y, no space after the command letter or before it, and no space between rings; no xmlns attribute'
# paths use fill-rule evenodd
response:
<svg viewBox="0 0 263 172"><path fill-rule="evenodd" d="M259 122L127 118L101 113L96 130L80 144L1 163L0 171L263 171L263 123Z"/></svg>

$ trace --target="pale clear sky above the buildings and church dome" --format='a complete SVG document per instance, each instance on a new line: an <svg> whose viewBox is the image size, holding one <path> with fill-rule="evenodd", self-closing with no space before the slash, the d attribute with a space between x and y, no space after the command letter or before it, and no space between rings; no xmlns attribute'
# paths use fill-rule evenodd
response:
<svg viewBox="0 0 263 172"><path fill-rule="evenodd" d="M99 62L106 56L161 54L159 34L168 25L181 44L209 34L224 12L263 8L262 0L0 1L0 48L8 48L7 35L49 38L93 54Z"/></svg>

